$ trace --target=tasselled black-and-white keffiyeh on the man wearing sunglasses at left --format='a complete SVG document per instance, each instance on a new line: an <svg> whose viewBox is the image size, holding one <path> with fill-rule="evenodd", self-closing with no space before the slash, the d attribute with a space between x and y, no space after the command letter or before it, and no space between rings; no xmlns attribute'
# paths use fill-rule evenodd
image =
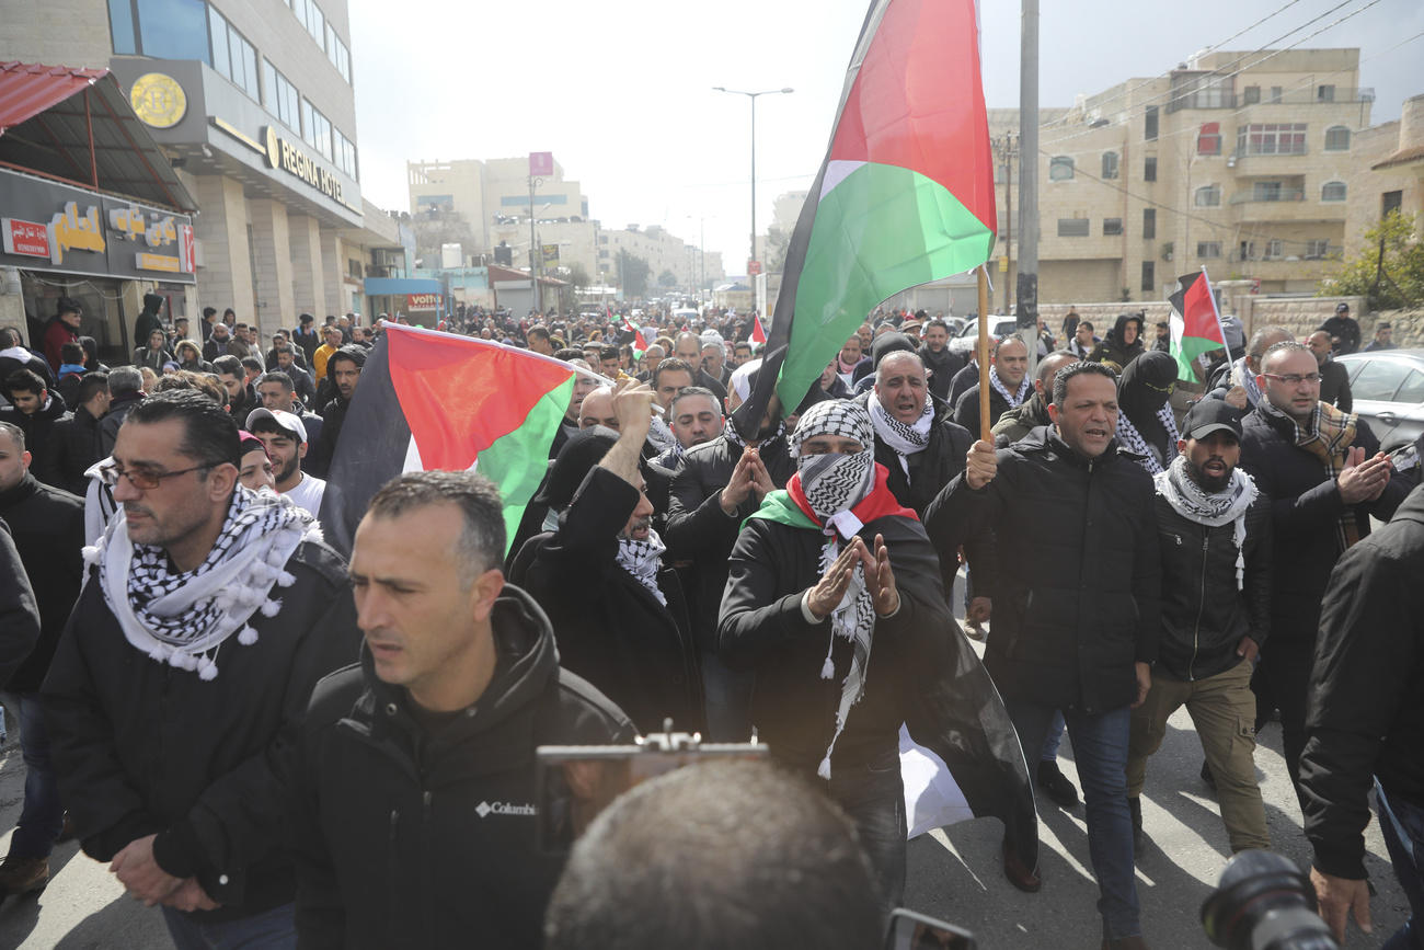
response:
<svg viewBox="0 0 1424 950"><path fill-rule="evenodd" d="M84 560L98 564L104 601L134 648L214 679L218 648L232 634L245 647L255 644L252 615L282 610L272 590L296 583L286 561L319 531L316 518L286 496L236 486L216 543L191 571L174 570L161 547L130 541L122 517L84 548Z"/></svg>

